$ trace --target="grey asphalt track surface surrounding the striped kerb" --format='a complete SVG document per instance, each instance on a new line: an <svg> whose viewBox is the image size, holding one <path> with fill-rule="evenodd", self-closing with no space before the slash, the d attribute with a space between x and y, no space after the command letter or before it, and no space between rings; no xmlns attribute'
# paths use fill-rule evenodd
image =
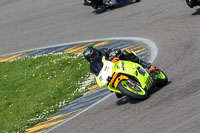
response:
<svg viewBox="0 0 200 133"><path fill-rule="evenodd" d="M184 0L143 0L102 14L81 0L1 0L0 55L72 41L141 37L171 83L143 102L111 96L52 133L199 133L200 11ZM118 103L118 104L116 104Z"/></svg>

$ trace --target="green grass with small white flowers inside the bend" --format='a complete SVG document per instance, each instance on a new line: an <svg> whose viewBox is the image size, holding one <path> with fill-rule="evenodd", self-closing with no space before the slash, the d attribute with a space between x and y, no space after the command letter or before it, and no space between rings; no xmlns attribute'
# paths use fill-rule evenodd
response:
<svg viewBox="0 0 200 133"><path fill-rule="evenodd" d="M0 63L0 132L24 132L43 121L80 97L89 77L86 60L71 54Z"/></svg>

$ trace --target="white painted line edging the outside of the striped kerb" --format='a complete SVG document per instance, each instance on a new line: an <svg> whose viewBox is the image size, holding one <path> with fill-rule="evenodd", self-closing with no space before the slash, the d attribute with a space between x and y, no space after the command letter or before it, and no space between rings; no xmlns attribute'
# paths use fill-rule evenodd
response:
<svg viewBox="0 0 200 133"><path fill-rule="evenodd" d="M149 62L153 62L158 54L158 48L156 46L156 44L154 42L152 42L151 40L148 39L144 39L144 38L139 38L139 37L113 37L113 38L105 38L105 39L96 39L96 40L86 40L86 41L80 41L80 42L72 42L72 43L65 43L65 44L60 44L60 45L54 45L54 46L50 46L50 47L55 47L55 46L62 46L62 45L70 45L70 44L75 44L75 43L89 43L89 42L95 42L95 41L108 41L108 40L132 40L132 41L139 41L139 42L143 42L145 43L148 47L149 50L151 52L151 55L149 57ZM47 48L47 47L46 47ZM49 47L48 47L49 48ZM40 48L42 49L42 48ZM92 104L91 106L89 106L88 108L84 109L83 111L81 111L80 113L74 115L73 117L71 117L70 119L67 119L61 123L59 123L58 125L50 128L48 131L46 131L45 133L51 132L52 130L54 130L55 128L61 126L62 124L72 120L73 118L79 116L80 114L86 112L87 110L91 109L92 107L96 106L97 104L101 103L102 101L106 100L107 98L109 98L111 95L113 95L113 93L105 96L104 98L102 98L101 100L99 100L98 102Z"/></svg>

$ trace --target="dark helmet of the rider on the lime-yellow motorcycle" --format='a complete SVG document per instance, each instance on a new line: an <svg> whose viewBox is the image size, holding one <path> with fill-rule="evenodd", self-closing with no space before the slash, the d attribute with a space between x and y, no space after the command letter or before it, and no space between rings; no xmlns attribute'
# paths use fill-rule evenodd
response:
<svg viewBox="0 0 200 133"><path fill-rule="evenodd" d="M100 55L100 51L95 49L93 46L89 46L84 50L83 55L86 60L91 62Z"/></svg>

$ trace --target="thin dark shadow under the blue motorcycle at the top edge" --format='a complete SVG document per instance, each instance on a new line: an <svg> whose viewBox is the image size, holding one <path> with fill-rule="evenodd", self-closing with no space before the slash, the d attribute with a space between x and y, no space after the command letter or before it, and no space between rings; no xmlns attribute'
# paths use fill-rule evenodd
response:
<svg viewBox="0 0 200 133"><path fill-rule="evenodd" d="M138 2L141 2L141 0L138 1ZM117 5L114 5L114 6L111 6L111 7L108 7L108 8L104 8L104 9L96 9L92 13L101 14L101 13L104 13L106 11L112 11L112 10L122 8L122 7L125 7L125 6L128 6L128 5L136 4L138 2L125 2L123 4L117 4Z"/></svg>

